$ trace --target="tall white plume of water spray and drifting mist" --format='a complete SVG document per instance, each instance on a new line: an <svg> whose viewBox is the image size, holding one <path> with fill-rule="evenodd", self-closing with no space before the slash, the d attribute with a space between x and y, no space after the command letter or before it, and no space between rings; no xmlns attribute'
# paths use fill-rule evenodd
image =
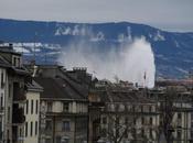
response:
<svg viewBox="0 0 193 143"><path fill-rule="evenodd" d="M74 42L64 48L58 63L68 69L87 67L88 73L99 79L115 81L118 77L148 88L154 86L154 56L144 37L101 48L85 41Z"/></svg>

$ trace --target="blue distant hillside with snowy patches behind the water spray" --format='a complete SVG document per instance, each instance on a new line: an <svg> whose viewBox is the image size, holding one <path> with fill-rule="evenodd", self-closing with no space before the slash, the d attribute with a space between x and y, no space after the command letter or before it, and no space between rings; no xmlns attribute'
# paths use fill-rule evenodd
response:
<svg viewBox="0 0 193 143"><path fill-rule="evenodd" d="M17 43L24 57L32 56L33 42L39 62L46 53L47 61L54 63L60 51L79 38L107 51L110 45L144 36L152 45L156 56L157 76L181 78L193 68L193 33L165 32L149 25L128 22L120 23L68 23L37 22L0 19L0 41ZM105 48L104 48L105 47Z"/></svg>

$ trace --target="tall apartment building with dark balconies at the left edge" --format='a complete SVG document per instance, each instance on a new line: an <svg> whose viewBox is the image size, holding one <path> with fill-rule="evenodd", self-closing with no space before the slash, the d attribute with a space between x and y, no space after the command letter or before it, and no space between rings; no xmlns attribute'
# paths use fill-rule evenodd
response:
<svg viewBox="0 0 193 143"><path fill-rule="evenodd" d="M2 142L22 143L24 127L24 78L29 76L22 66L21 54L12 45L0 46Z"/></svg>

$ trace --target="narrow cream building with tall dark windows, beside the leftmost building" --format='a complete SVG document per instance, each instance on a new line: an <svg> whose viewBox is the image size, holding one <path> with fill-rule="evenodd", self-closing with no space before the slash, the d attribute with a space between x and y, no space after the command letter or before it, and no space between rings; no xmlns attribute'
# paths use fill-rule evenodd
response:
<svg viewBox="0 0 193 143"><path fill-rule="evenodd" d="M25 125L24 125L24 143L39 143L40 127L40 92L42 87L35 81L25 84L26 86L26 103L24 108Z"/></svg>

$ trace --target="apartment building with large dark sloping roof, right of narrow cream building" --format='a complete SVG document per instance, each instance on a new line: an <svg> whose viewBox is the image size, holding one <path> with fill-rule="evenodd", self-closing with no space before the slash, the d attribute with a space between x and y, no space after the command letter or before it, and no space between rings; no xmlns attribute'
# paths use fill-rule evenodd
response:
<svg viewBox="0 0 193 143"><path fill-rule="evenodd" d="M86 143L88 123L88 79L85 68L65 70L60 66L30 68L43 88L40 94L40 141Z"/></svg>

